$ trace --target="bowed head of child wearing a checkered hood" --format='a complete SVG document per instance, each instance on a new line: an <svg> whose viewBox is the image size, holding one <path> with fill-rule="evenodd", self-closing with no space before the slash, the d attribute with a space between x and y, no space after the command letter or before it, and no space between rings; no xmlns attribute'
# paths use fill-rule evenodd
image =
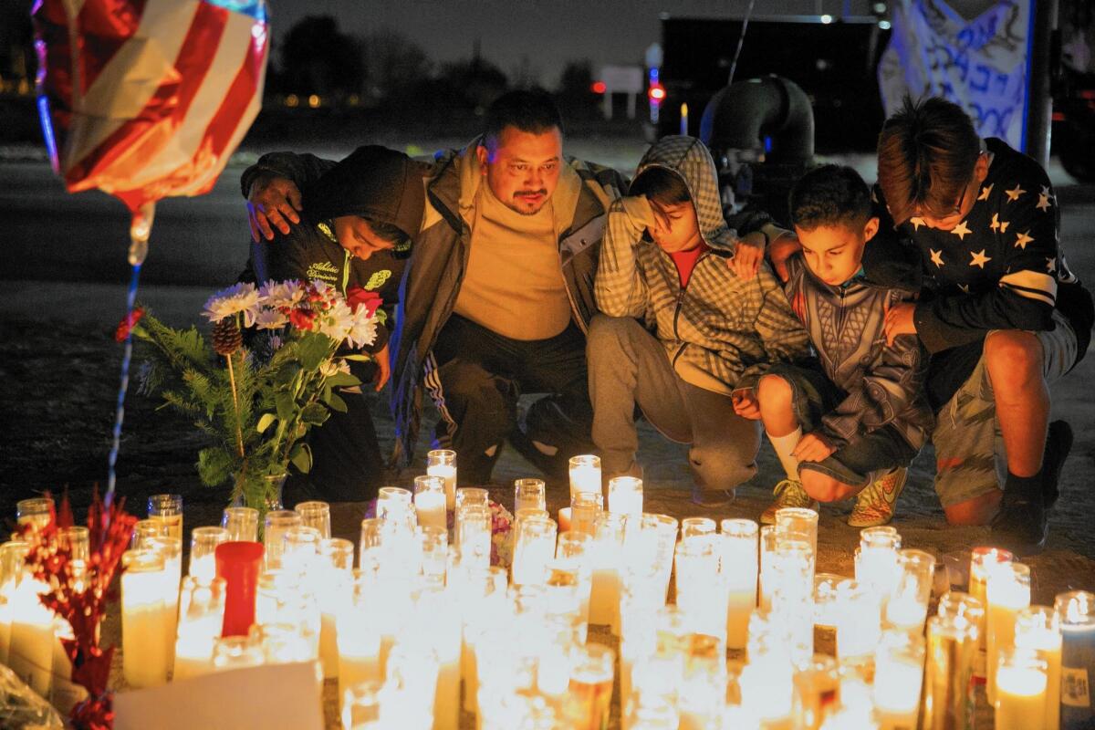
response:
<svg viewBox="0 0 1095 730"><path fill-rule="evenodd" d="M650 200L657 220L650 237L667 253L694 248L701 240L733 251L735 236L723 219L715 161L694 137L655 142L638 163L629 194Z"/></svg>

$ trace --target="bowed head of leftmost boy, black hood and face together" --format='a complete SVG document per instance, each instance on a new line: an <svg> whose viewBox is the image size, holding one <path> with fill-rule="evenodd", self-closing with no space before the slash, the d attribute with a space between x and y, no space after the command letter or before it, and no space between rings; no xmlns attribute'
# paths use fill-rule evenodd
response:
<svg viewBox="0 0 1095 730"><path fill-rule="evenodd" d="M338 243L359 258L405 253L422 225L423 175L423 165L402 152L359 147L304 192L304 210L331 221Z"/></svg>

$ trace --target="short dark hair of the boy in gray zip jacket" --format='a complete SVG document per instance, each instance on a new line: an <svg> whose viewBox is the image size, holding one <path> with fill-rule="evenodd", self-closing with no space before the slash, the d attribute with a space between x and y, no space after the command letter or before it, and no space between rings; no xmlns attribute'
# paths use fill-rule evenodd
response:
<svg viewBox="0 0 1095 730"><path fill-rule="evenodd" d="M798 178L787 198L791 222L811 231L819 225L861 227L871 218L871 189L846 165L822 165Z"/></svg>

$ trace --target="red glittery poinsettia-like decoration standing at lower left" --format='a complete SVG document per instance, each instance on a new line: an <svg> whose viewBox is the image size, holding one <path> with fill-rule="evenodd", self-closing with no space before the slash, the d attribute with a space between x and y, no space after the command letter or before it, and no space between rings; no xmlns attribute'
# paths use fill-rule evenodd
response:
<svg viewBox="0 0 1095 730"><path fill-rule="evenodd" d="M81 730L110 730L114 725L111 695L106 691L114 647L99 645L99 627L114 600L111 581L129 545L137 518L125 511L125 498L105 507L96 490L88 508L91 554L87 566L72 559L71 547L61 544L58 531L72 526L68 495L49 524L39 530L24 526L23 538L30 544L26 565L34 577L49 586L41 596L43 605L72 626L74 639L61 639L72 662L72 682L88 691L89 698L72 708L72 727Z"/></svg>

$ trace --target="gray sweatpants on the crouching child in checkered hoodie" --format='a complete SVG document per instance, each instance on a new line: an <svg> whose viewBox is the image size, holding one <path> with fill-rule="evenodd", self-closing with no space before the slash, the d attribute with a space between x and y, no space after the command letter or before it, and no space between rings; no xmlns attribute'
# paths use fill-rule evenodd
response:
<svg viewBox="0 0 1095 730"><path fill-rule="evenodd" d="M691 444L689 464L701 489L733 489L757 473L760 421L734 413L728 395L681 380L665 347L637 321L595 316L586 352L592 438L606 476L634 465L636 405L666 438Z"/></svg>

